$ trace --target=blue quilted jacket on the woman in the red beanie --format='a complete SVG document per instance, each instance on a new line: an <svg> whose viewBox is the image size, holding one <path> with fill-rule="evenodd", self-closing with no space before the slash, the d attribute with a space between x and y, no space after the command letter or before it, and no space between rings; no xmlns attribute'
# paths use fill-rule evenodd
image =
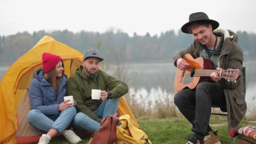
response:
<svg viewBox="0 0 256 144"><path fill-rule="evenodd" d="M53 86L45 79L44 70L39 69L29 87L29 100L31 109L38 109L44 115L59 115L58 107L66 96L67 75L61 78L58 94L53 91Z"/></svg>

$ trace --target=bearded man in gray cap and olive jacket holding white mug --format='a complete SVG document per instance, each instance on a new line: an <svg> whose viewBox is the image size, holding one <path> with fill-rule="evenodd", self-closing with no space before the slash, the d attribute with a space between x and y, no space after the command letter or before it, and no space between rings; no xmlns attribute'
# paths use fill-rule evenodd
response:
<svg viewBox="0 0 256 144"><path fill-rule="evenodd" d="M83 62L67 81L67 94L77 102L77 114L72 122L80 131L98 131L101 120L117 111L120 96L128 93L125 83L99 70L103 61L99 51L89 49ZM107 88L110 91L106 92ZM100 99L92 99L92 89L100 91Z"/></svg>

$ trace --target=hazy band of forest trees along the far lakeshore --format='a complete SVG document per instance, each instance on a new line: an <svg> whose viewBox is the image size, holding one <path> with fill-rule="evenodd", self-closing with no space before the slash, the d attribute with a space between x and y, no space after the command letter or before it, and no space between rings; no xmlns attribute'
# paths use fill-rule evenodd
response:
<svg viewBox="0 0 256 144"><path fill-rule="evenodd" d="M256 34L237 31L238 44L243 49L244 59L250 60L256 55ZM172 61L173 56L193 41L193 36L174 30L162 32L160 36L137 35L130 37L121 30L109 29L104 33L81 31L44 30L19 32L15 35L0 35L0 64L11 64L29 51L43 36L49 35L84 53L86 49L98 49L108 61Z"/></svg>

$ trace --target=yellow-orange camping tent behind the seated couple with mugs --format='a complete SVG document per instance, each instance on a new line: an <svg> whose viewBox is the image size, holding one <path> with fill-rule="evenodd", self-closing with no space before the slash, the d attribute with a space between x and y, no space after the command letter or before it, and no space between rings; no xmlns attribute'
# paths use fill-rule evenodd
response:
<svg viewBox="0 0 256 144"><path fill-rule="evenodd" d="M30 128L27 113L30 110L28 88L33 74L43 67L42 54L44 52L61 56L65 74L68 77L80 66L83 57L79 51L52 37L44 36L31 50L9 67L0 81L0 143L36 142L42 134ZM139 127L123 97L120 99L117 111L121 115L131 115L133 123Z"/></svg>

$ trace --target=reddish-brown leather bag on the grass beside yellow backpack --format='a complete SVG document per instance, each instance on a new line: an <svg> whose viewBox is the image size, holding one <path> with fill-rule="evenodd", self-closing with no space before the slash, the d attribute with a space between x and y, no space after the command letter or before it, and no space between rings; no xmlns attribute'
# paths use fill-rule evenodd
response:
<svg viewBox="0 0 256 144"><path fill-rule="evenodd" d="M101 120L101 127L93 133L88 144L113 144L117 139L118 118L112 115Z"/></svg>

